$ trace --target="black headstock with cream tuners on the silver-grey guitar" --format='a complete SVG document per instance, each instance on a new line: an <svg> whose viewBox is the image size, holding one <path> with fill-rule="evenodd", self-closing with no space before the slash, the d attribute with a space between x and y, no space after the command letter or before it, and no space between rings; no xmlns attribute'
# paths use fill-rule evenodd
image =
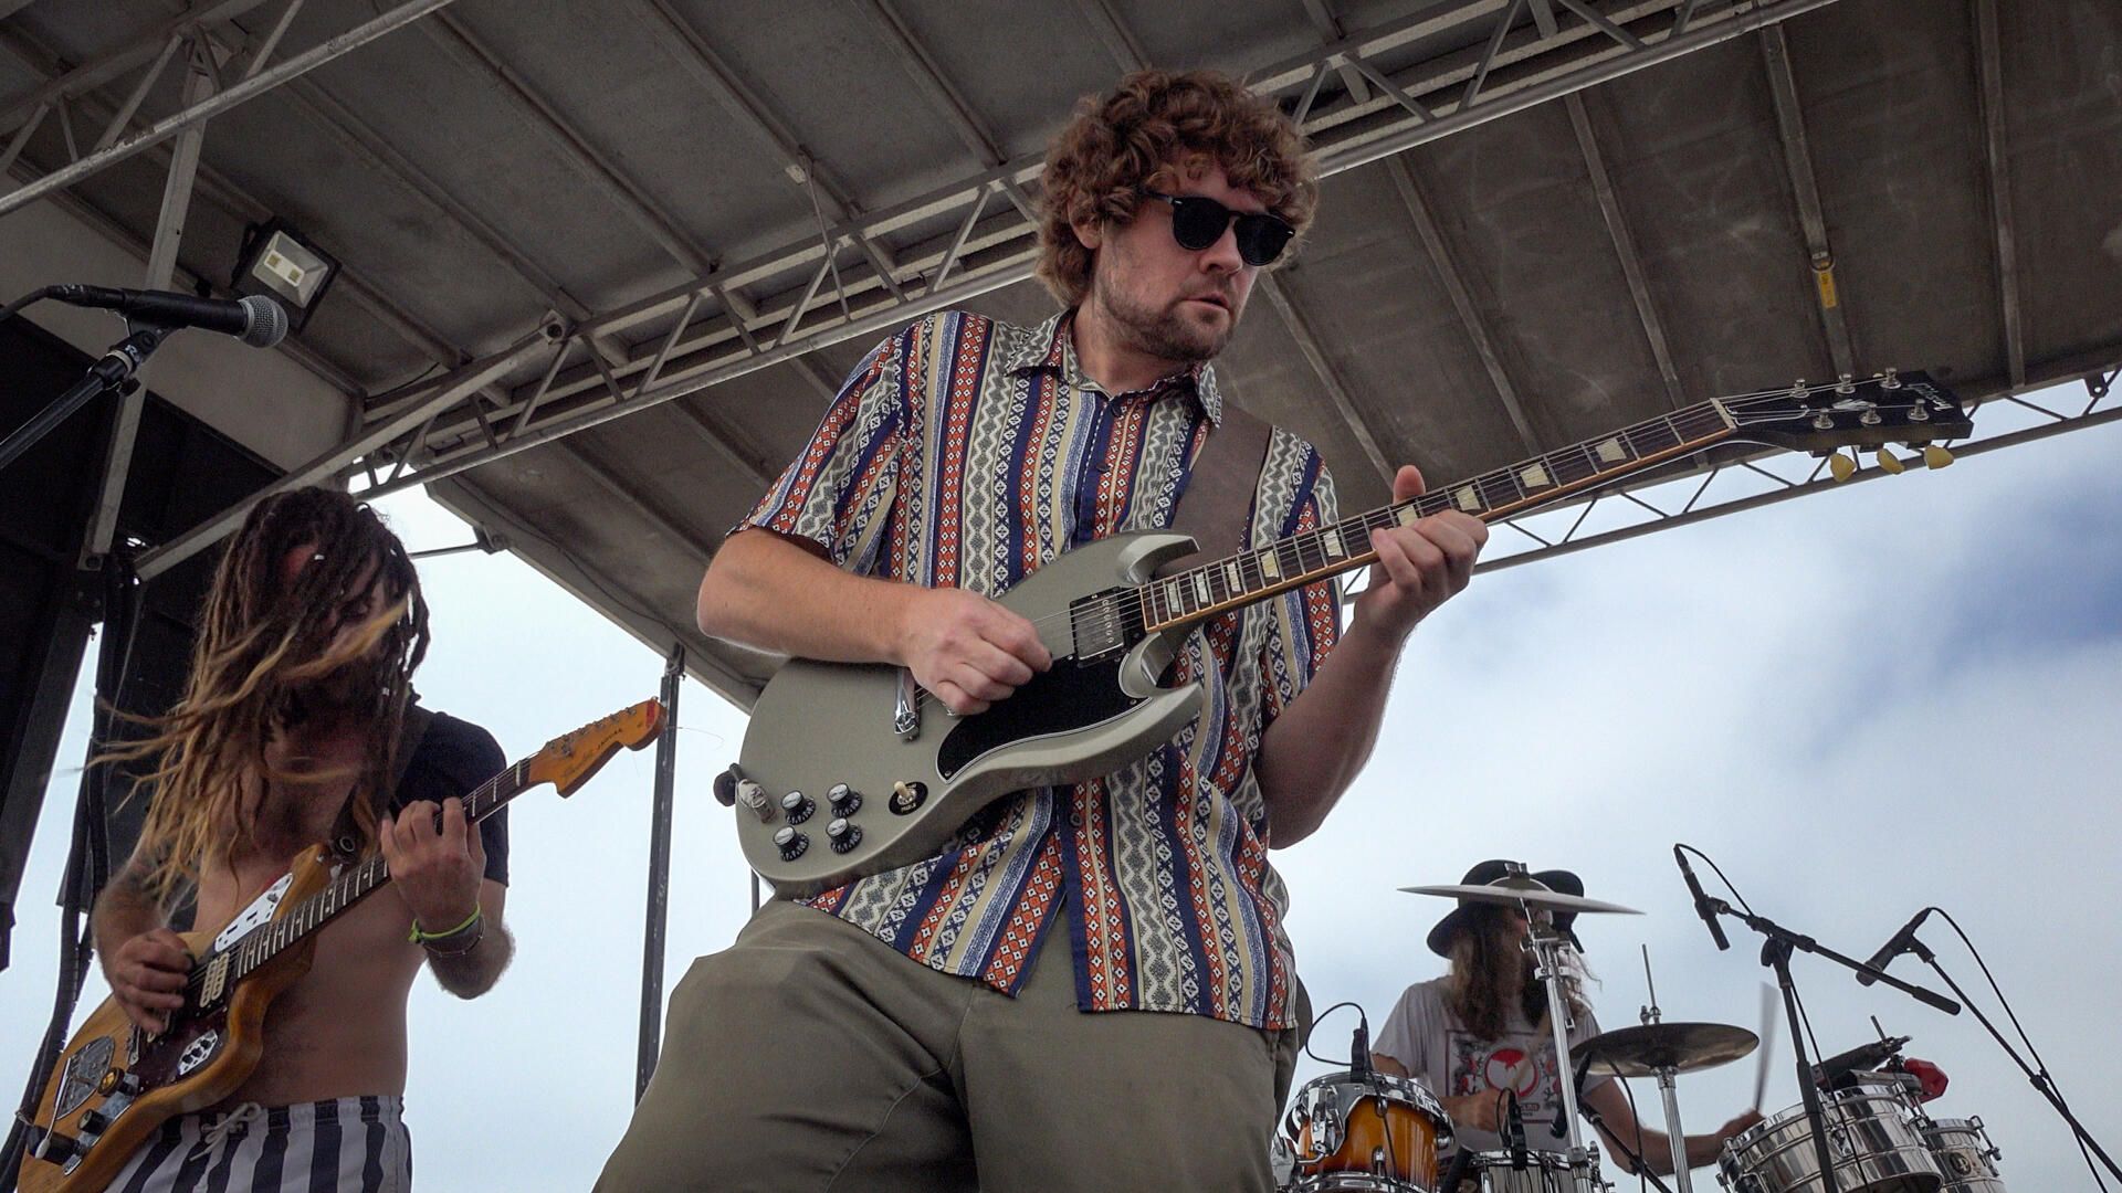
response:
<svg viewBox="0 0 2122 1193"><path fill-rule="evenodd" d="M1717 405L1732 420L1738 439L1816 456L1838 448L1880 448L1880 463L1889 471L1901 469L1886 463L1886 444L1918 448L1973 433L1961 399L1920 371L1886 369L1863 380L1814 386L1797 382L1780 393L1723 397ZM1940 467L1937 459L1950 461L1942 448L1927 452L1927 459L1933 467ZM1844 476L1848 473L1836 469L1838 480Z"/></svg>

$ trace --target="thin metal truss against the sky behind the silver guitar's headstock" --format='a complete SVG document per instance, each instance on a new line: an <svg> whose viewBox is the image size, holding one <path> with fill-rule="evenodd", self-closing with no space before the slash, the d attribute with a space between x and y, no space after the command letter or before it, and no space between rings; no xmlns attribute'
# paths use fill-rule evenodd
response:
<svg viewBox="0 0 2122 1193"><path fill-rule="evenodd" d="M1995 422L2005 414L2018 414L2020 422L2031 422L2031 425L2022 425L2010 431L1978 433L1973 439L1954 444L1950 450L1954 459L1980 456L1984 452L1995 452L1999 448L2014 448L2018 444L2029 444L2033 439L2048 439L2050 435L2060 435L2065 431L2084 431L2090 427L2101 427L2107 422L2122 420L2122 397L2114 393L2114 382L2118 376L2122 376L2122 365L2107 363L2092 371L2077 371L2075 376L2069 371L2052 374L2048 380L2035 382L2037 386L2052 386L2080 380L2086 391L2086 403L2075 412L2052 410L2048 405L2029 401L2027 397L2020 397L2018 393L2020 386L2012 386L2005 393L1982 399L1973 405L1978 431L1982 429L1984 422L1980 414L1982 410L1993 412L1990 422ZM1795 456L1766 454L1740 461L1721 461L1702 467L1693 473L1700 476L1700 482L1693 484L1693 490L1687 492L1687 499L1679 507L1670 507L1668 492L1681 492L1681 486L1693 480L1693 476L1664 478L1638 486L1621 486L1600 492L1579 505L1564 505L1560 509L1551 507L1538 514L1528 514L1524 518L1504 518L1502 522L1498 522L1498 526L1509 526L1511 531L1515 531L1515 537L1498 535L1490 539L1485 558L1479 565L1475 565L1475 571L1519 567L1541 558L1572 554L1604 543L1617 543L1621 539L1634 539L1640 535L1649 535L1653 531L1706 522L1710 518L1723 518L1725 514L1740 514L1744 509L1759 509L1761 505L1774 505L1778 501L1789 501L1793 497L1804 497L1808 492L1819 492L1823 488L1840 488L1848 484L1878 480L1882 476L1899 473L1906 467L1920 467L1920 461L1916 459L1903 461L1899 456L1891 456L1893 463L1889 465L1884 463L1882 456L1872 456L1872 463L1861 463L1861 467L1855 473L1850 473L1850 478L1844 482L1838 482L1831 476L1823 476L1827 471L1825 459L1819 461L1810 469L1810 473L1804 476L1802 480L1785 476L1791 471L1789 467L1785 467L1782 471L1776 471L1774 467L1763 467L1763 465L1774 465L1776 461L1791 461L1791 459ZM1725 480L1727 476L1732 480ZM1768 482L1770 486L1768 490L1759 488L1761 480ZM1746 482L1749 488L1742 492L1738 490L1736 482ZM1710 488L1717 488L1715 497L1710 497ZM1600 503L1608 505L1623 503L1628 507L1628 514L1634 516L1636 520L1630 522L1628 526L1619 526L1613 531L1600 531L1589 535L1581 533L1585 520L1592 516L1596 507L1600 507ZM1570 518L1572 509L1575 518ZM1568 526L1560 535L1553 535L1549 524L1558 520L1568 520Z"/></svg>

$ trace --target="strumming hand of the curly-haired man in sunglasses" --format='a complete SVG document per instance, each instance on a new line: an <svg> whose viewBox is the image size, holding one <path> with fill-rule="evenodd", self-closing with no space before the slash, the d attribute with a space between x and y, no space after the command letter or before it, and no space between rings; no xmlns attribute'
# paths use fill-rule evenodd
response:
<svg viewBox="0 0 2122 1193"><path fill-rule="evenodd" d="M953 713L985 713L1053 667L1038 628L963 588L915 588L898 628L898 662Z"/></svg>

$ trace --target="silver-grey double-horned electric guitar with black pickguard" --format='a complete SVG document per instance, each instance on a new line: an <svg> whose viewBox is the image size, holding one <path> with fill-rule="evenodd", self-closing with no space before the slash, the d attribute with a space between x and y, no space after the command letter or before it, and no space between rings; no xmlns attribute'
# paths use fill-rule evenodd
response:
<svg viewBox="0 0 2122 1193"><path fill-rule="evenodd" d="M736 809L745 860L777 892L806 896L934 858L999 796L1106 775L1169 741L1201 711L1201 684L1167 688L1184 635L1218 613L1375 558L1371 531L1445 509L1481 520L1702 452L1763 444L1923 446L1971 431L1959 399L1923 374L1719 397L1434 488L1333 526L1156 577L1195 550L1186 535L1129 533L1072 550L999 601L1040 630L1053 669L955 717L912 675L885 664L792 660L766 684L736 766L715 794ZM1925 461L1942 467L1944 448ZM1855 471L1838 456L1836 476ZM1895 456L1891 471L1901 471Z"/></svg>

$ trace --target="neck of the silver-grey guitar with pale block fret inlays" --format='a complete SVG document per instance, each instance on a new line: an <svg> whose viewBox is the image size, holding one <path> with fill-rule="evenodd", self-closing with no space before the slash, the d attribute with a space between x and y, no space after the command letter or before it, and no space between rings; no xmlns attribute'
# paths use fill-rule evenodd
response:
<svg viewBox="0 0 2122 1193"><path fill-rule="evenodd" d="M1343 518L1333 526L1290 535L1265 548L1243 550L1154 580L1142 586L1144 628L1184 626L1275 592L1364 567L1377 558L1377 552L1371 550L1373 531L1405 526L1445 509L1473 514L1483 522L1526 514L1674 456L1700 452L1732 437L1736 425L1719 399L1702 401L1409 501Z"/></svg>

